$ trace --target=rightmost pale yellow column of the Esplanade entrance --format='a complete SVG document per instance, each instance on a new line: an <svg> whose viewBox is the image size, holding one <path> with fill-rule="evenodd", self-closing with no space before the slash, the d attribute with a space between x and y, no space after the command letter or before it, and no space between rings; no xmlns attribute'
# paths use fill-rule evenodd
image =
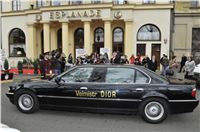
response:
<svg viewBox="0 0 200 132"><path fill-rule="evenodd" d="M129 58L133 54L133 21L125 21L125 41L124 41L124 53Z"/></svg>

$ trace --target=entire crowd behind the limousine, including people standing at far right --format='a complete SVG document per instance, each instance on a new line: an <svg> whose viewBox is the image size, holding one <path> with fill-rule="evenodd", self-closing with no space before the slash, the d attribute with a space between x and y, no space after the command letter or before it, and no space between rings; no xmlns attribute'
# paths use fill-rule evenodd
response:
<svg viewBox="0 0 200 132"><path fill-rule="evenodd" d="M55 75L58 75L66 70L66 65L81 65L81 64L135 64L144 66L152 71L156 71L159 65L158 60L156 60L155 55L149 58L148 55L142 57L140 54L137 54L135 57L134 54L127 57L120 52L113 52L111 58L107 53L97 54L92 53L91 55L82 55L78 56L75 61L73 61L73 56L70 53L68 57L62 53L61 50L53 50L45 54L40 55L40 71L41 76L46 78L46 73L52 71ZM161 75L163 76L173 76L176 77L177 71L185 72L185 78L192 78L193 71L195 68L195 62L191 56L186 57L182 56L181 63L176 62L176 56L173 56L171 60L168 59L167 55L163 54L160 59L160 64L162 65ZM177 68L180 67L179 70ZM184 67L184 70L183 70Z"/></svg>

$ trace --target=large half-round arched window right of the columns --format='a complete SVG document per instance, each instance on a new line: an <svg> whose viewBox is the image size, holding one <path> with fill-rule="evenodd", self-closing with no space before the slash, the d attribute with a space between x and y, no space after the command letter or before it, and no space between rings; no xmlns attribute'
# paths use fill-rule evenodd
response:
<svg viewBox="0 0 200 132"><path fill-rule="evenodd" d="M138 41L160 41L161 33L157 26L153 24L143 25L137 33Z"/></svg>

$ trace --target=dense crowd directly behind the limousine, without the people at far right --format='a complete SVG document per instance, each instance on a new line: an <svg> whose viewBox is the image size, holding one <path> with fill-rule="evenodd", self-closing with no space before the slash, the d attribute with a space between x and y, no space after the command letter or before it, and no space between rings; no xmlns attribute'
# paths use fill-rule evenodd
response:
<svg viewBox="0 0 200 132"><path fill-rule="evenodd" d="M157 60L155 59L155 56L152 56L152 59L150 59L148 56L142 58L142 56L138 54L136 57L131 55L131 57L128 58L127 55L123 55L120 52L113 52L110 59L107 53L92 53L91 55L78 56L75 61L73 61L74 59L71 53L68 55L68 57L66 57L61 50L57 49L40 54L39 59L40 72L43 78L46 78L46 73L53 73L55 75L62 73L66 70L66 65L135 64L143 65L152 71L156 71L157 69Z"/></svg>

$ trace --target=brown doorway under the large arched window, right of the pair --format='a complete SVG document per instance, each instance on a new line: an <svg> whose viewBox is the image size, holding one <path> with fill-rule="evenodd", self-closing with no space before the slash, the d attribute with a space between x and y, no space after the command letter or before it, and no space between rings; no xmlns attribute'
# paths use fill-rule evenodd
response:
<svg viewBox="0 0 200 132"><path fill-rule="evenodd" d="M160 49L161 49L160 44L152 44L151 46L151 57L155 55L158 69L160 68Z"/></svg>

